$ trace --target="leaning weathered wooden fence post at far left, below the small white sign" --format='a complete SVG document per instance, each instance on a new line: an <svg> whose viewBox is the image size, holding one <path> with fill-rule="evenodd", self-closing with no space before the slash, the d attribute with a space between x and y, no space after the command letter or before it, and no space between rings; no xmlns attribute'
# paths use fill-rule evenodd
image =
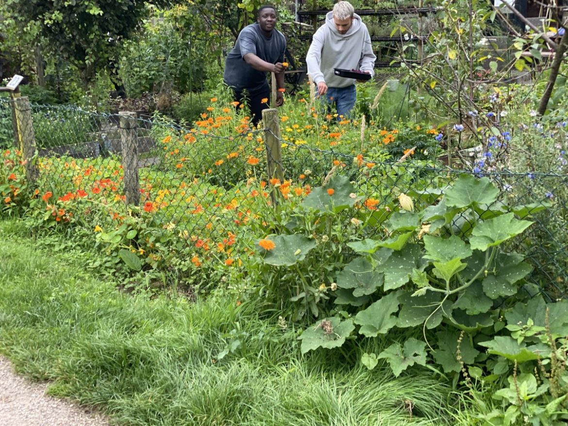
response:
<svg viewBox="0 0 568 426"><path fill-rule="evenodd" d="M34 183L39 178L39 168L37 168L35 160L35 132L34 123L32 122L32 110L30 101L26 96L13 99L14 115L16 118L16 126L18 130L18 147L22 151L24 157L24 169L26 170L26 179L28 182Z"/></svg>

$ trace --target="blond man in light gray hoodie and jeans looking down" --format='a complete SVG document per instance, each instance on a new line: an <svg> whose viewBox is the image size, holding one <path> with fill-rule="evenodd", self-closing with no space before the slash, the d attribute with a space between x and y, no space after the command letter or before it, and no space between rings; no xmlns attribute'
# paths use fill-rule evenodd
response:
<svg viewBox="0 0 568 426"><path fill-rule="evenodd" d="M335 103L338 116L344 118L355 106L354 83L360 80L336 76L334 68L357 69L373 76L375 59L369 30L351 3L345 1L337 2L327 13L306 55L308 74L318 94L327 97L329 106Z"/></svg>

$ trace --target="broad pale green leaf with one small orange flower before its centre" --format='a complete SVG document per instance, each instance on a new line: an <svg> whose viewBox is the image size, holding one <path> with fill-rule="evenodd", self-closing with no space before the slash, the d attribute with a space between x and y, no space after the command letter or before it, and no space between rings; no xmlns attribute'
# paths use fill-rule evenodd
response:
<svg viewBox="0 0 568 426"><path fill-rule="evenodd" d="M333 195L328 194L328 189L333 189ZM327 185L314 188L302 204L320 212L339 212L360 201L357 197L350 197L354 192L355 188L348 177L334 176Z"/></svg>

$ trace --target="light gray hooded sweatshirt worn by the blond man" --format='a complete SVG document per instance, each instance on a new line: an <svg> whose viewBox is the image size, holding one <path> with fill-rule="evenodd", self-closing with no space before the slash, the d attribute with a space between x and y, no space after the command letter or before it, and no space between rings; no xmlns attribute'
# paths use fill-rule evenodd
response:
<svg viewBox="0 0 568 426"><path fill-rule="evenodd" d="M353 18L346 34L340 34L333 23L333 12L328 12L325 24L312 37L306 64L316 85L324 81L329 87L347 87L355 82L353 78L336 76L334 68L360 69L374 75L377 57L371 47L369 30L359 15L354 14Z"/></svg>

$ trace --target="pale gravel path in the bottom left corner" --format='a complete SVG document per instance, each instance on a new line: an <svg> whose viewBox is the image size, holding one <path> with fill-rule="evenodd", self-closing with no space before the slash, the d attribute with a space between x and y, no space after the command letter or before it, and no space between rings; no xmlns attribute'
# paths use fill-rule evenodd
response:
<svg viewBox="0 0 568 426"><path fill-rule="evenodd" d="M99 414L45 395L47 386L14 374L10 361L0 357L0 425L108 426Z"/></svg>

